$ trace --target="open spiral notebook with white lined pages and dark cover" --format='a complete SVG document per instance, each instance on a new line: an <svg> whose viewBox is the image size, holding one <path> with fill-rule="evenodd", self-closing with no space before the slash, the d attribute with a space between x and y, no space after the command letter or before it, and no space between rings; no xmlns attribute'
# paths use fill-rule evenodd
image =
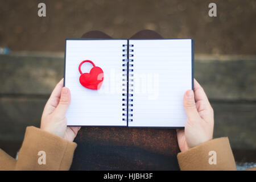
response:
<svg viewBox="0 0 256 182"><path fill-rule="evenodd" d="M79 82L79 64L104 71L99 90ZM92 64L82 65L90 72ZM67 39L64 85L69 126L184 127L183 95L193 88L192 39Z"/></svg>

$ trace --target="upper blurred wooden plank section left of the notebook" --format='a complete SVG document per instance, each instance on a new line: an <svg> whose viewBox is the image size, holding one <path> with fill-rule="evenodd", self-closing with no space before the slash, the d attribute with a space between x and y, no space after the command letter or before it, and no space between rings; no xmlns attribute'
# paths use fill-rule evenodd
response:
<svg viewBox="0 0 256 182"><path fill-rule="evenodd" d="M0 55L0 94L49 94L64 76L64 59Z"/></svg>

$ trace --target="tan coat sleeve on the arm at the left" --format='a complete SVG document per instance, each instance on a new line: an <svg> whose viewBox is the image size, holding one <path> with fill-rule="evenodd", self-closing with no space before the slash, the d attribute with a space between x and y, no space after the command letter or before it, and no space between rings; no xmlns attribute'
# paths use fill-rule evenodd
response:
<svg viewBox="0 0 256 182"><path fill-rule="evenodd" d="M56 135L27 127L18 160L0 150L0 170L68 170L77 144ZM39 164L39 151L46 154L46 164Z"/></svg>

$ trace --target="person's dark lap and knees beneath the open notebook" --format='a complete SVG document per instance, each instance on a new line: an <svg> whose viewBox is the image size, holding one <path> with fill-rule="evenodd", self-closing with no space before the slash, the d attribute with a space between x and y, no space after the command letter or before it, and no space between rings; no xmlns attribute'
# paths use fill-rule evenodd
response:
<svg viewBox="0 0 256 182"><path fill-rule="evenodd" d="M112 39L101 31L81 38ZM163 39L155 31L139 31L131 39ZM179 169L176 130L129 127L81 127L71 170Z"/></svg>

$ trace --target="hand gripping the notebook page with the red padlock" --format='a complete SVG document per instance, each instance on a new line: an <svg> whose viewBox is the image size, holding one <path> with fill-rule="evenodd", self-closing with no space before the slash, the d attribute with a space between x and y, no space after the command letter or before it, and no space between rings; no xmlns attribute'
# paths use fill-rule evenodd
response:
<svg viewBox="0 0 256 182"><path fill-rule="evenodd" d="M62 78L55 86L44 107L40 129L73 142L81 127L67 126L65 113L70 102L70 90L67 87L63 87Z"/></svg>

